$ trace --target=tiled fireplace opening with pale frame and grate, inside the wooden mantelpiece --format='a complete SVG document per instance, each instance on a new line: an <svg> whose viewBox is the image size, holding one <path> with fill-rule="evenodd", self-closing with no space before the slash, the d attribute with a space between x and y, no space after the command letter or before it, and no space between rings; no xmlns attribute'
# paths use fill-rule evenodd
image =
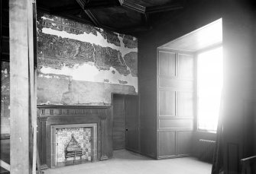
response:
<svg viewBox="0 0 256 174"><path fill-rule="evenodd" d="M88 163L98 159L96 123L51 125L51 130L52 167Z"/></svg>

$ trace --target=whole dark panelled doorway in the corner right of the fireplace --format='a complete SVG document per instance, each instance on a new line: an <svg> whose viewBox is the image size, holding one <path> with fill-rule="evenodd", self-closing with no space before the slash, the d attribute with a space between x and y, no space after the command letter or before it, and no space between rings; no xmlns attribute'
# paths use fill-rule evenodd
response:
<svg viewBox="0 0 256 174"><path fill-rule="evenodd" d="M113 94L113 150L139 152L138 96Z"/></svg>

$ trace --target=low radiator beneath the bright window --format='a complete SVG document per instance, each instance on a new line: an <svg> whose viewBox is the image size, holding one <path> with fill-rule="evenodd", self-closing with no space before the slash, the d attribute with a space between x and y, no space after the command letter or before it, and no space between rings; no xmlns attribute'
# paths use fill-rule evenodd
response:
<svg viewBox="0 0 256 174"><path fill-rule="evenodd" d="M199 160L212 163L216 141L199 139Z"/></svg>

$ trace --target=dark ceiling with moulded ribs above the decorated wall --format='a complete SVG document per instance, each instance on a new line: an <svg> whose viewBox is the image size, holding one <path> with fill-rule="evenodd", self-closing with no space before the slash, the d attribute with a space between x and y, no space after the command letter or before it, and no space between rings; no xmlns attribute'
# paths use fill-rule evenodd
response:
<svg viewBox="0 0 256 174"><path fill-rule="evenodd" d="M186 0L37 0L37 9L119 33L151 30L152 19L182 11Z"/></svg>

